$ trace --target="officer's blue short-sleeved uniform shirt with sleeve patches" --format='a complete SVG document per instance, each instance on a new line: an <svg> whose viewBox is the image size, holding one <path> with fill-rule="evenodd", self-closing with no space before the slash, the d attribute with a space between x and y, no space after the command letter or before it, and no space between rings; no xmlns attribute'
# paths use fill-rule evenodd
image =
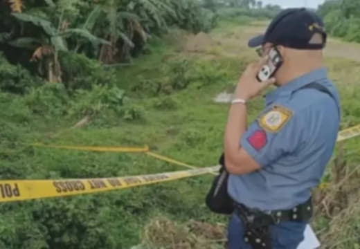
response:
<svg viewBox="0 0 360 249"><path fill-rule="evenodd" d="M317 82L334 95L312 88ZM311 196L329 162L340 124L340 99L327 70L298 77L267 95L266 108L241 139L262 169L231 175L228 192L263 211L294 208Z"/></svg>

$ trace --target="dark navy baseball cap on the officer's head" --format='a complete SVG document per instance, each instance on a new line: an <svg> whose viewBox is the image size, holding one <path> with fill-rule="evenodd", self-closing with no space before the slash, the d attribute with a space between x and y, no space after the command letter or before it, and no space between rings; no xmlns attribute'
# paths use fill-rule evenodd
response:
<svg viewBox="0 0 360 249"><path fill-rule="evenodd" d="M321 44L313 43L312 37L321 34ZM267 42L296 49L322 49L326 44L326 32L323 20L312 10L289 8L282 10L271 21L264 35L249 41L250 47L262 46Z"/></svg>

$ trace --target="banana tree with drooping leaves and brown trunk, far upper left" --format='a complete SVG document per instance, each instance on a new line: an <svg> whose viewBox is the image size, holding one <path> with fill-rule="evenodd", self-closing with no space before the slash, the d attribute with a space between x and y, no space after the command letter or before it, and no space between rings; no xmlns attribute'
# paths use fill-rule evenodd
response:
<svg viewBox="0 0 360 249"><path fill-rule="evenodd" d="M43 17L35 17L26 13L12 13L19 24L24 26L30 24L35 26L42 35L39 37L19 37L8 44L18 48L27 48L34 51L30 61L39 61L39 73L44 73L49 82L61 82L61 66L58 59L59 51L68 51L66 39L79 37L86 39L95 46L109 44L105 39L92 35L86 28L67 28L60 17L59 25L56 28L51 21Z"/></svg>

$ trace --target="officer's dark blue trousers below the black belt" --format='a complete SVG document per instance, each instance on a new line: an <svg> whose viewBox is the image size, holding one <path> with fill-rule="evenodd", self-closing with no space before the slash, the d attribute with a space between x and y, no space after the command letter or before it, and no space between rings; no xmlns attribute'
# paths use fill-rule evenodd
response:
<svg viewBox="0 0 360 249"><path fill-rule="evenodd" d="M271 239L273 249L296 249L304 239L307 223L282 222L271 225ZM252 249L244 242L245 228L241 219L233 214L228 225L228 249Z"/></svg>

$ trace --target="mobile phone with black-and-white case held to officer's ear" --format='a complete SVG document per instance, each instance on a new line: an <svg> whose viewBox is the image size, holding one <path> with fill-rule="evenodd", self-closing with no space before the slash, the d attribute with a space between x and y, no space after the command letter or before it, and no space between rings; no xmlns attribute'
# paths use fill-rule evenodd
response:
<svg viewBox="0 0 360 249"><path fill-rule="evenodd" d="M282 65L282 62L283 60L279 50L276 47L271 48L267 64L262 66L257 75L258 81L264 82L265 80L269 80L271 77L273 77L273 75L275 75L276 71L278 71Z"/></svg>

